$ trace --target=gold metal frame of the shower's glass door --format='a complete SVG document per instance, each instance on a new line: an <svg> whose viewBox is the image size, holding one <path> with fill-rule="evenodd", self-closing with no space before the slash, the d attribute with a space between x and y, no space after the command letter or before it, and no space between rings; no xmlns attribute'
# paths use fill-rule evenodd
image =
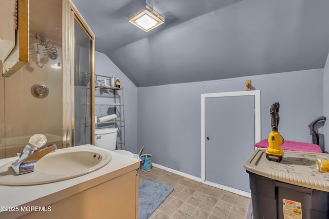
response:
<svg viewBox="0 0 329 219"><path fill-rule="evenodd" d="M90 121L90 144L94 144L95 127L94 121L94 103L95 103L95 34L89 28L83 17L69 0L63 1L63 147L76 146L75 144L75 22L77 22L90 41L90 69L89 86L90 101L87 104L89 108ZM65 70L64 70L65 69ZM84 118L85 119L85 118Z"/></svg>

